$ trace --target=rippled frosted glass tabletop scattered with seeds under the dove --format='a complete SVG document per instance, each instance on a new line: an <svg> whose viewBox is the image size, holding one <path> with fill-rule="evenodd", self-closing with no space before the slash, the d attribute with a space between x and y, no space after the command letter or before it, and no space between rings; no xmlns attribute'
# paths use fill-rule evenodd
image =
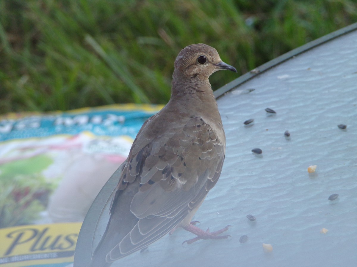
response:
<svg viewBox="0 0 357 267"><path fill-rule="evenodd" d="M227 136L226 160L193 219L211 231L230 224L232 238L181 246L194 236L179 229L112 266L357 266L357 23L276 58L215 94ZM310 165L317 165L316 172L308 173ZM109 181L83 223L75 256L79 266L85 266L105 229L108 207L102 211L102 200L115 185ZM339 197L328 200L335 193ZM247 242L240 243L242 235ZM263 251L263 243L273 250Z"/></svg>

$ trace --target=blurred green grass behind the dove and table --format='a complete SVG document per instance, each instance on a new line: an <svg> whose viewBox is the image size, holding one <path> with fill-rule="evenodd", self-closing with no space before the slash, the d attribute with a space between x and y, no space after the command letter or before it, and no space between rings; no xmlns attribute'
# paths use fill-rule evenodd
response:
<svg viewBox="0 0 357 267"><path fill-rule="evenodd" d="M2 0L0 114L165 104L187 45L215 47L240 75L356 21L355 0Z"/></svg>

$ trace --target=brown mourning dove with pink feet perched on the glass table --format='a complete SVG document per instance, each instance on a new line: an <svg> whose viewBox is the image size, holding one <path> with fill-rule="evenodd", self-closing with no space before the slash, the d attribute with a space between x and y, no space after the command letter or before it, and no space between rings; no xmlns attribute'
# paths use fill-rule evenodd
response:
<svg viewBox="0 0 357 267"><path fill-rule="evenodd" d="M228 226L209 232L191 223L225 158L226 137L208 81L220 69L237 72L208 45L190 45L178 54L169 102L145 121L114 174L120 180L110 219L90 266L110 266L177 227L197 235L189 244L228 237L218 236Z"/></svg>

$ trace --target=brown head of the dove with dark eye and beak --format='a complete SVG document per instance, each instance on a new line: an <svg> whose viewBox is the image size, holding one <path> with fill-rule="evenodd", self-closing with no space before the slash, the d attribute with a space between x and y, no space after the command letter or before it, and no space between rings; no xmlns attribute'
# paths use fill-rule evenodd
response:
<svg viewBox="0 0 357 267"><path fill-rule="evenodd" d="M237 70L222 62L217 50L204 43L186 46L175 60L174 78L201 78L208 79L213 72L220 69Z"/></svg>

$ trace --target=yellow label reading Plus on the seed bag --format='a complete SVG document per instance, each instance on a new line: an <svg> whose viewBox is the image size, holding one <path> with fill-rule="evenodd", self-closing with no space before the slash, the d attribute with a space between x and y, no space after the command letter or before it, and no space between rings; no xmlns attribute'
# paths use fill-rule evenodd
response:
<svg viewBox="0 0 357 267"><path fill-rule="evenodd" d="M24 225L0 229L0 266L73 262L82 223Z"/></svg>

